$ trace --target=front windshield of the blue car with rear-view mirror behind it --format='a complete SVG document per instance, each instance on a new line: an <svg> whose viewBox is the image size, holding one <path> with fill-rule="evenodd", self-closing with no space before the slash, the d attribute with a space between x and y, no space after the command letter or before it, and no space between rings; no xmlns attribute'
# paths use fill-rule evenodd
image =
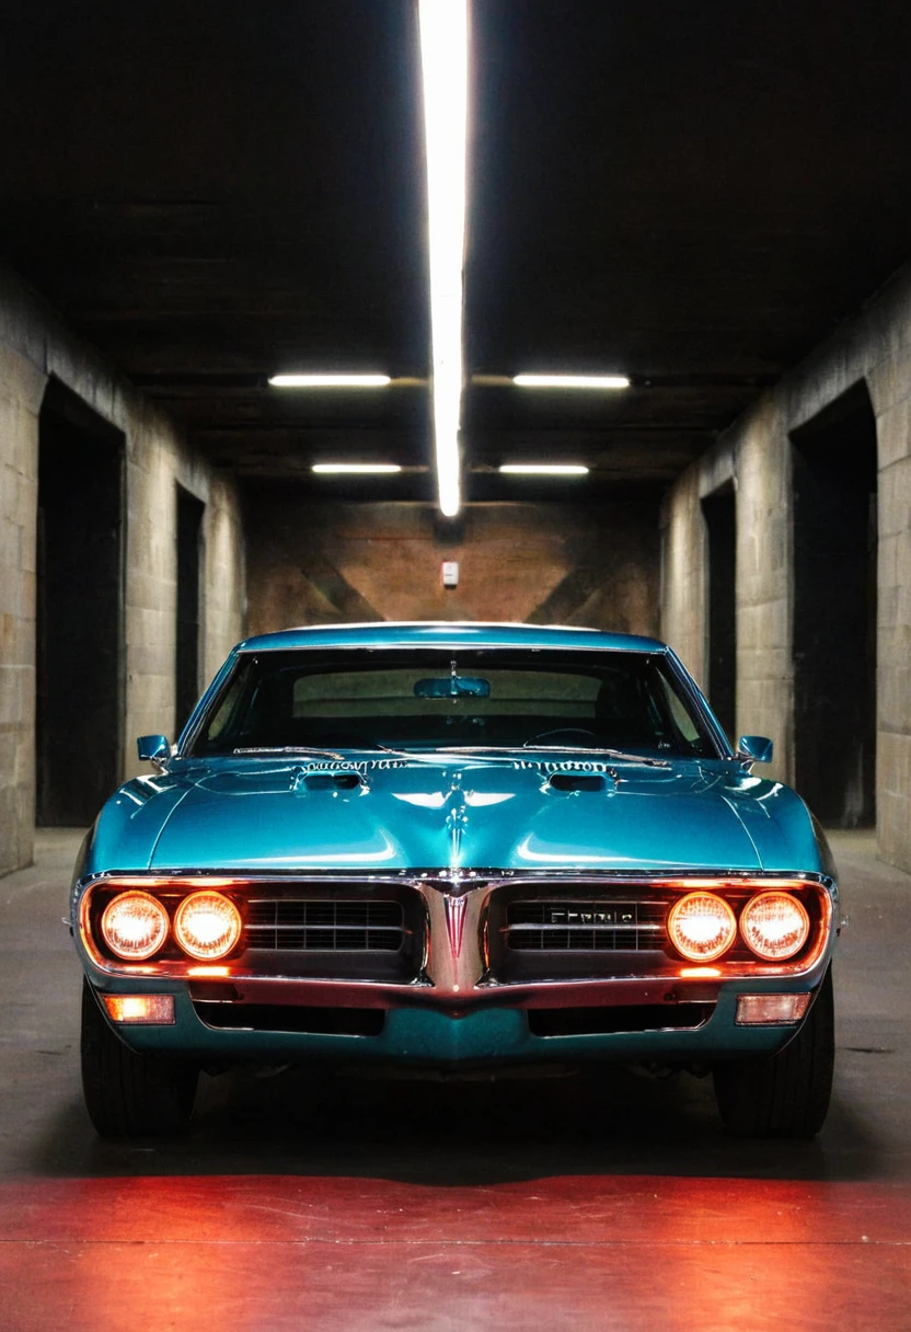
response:
<svg viewBox="0 0 911 1332"><path fill-rule="evenodd" d="M244 653L185 753L459 746L719 753L663 654L514 649Z"/></svg>

